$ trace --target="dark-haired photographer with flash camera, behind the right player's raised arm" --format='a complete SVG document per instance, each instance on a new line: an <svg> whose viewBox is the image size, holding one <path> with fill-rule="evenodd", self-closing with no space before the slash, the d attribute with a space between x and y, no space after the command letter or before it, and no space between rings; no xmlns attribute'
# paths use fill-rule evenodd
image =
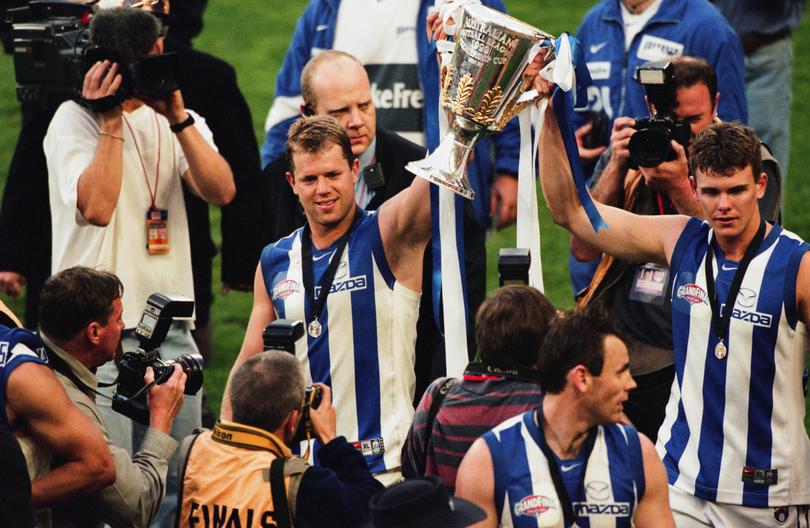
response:
<svg viewBox="0 0 810 528"><path fill-rule="evenodd" d="M670 65L672 79L664 88L671 90L674 101L659 101L661 107L658 108L649 97L650 103L654 113L669 115L673 123L687 124L691 132L688 143L691 143L697 134L718 121L720 94L717 76L706 61L693 57L672 59ZM664 108L667 105L672 107L671 110ZM640 128L640 123L634 119L616 119L609 161L601 175L599 167L594 175L591 189L594 199L637 214L701 216L689 179L687 145L673 139L668 157L674 159L633 169L634 160L631 158L643 158L648 154L638 145L649 146L649 143L636 143L635 150L630 147L631 138L638 133L634 127ZM631 156L631 151L636 154ZM767 219L774 219L779 214L778 167L774 171L775 162L771 167L766 194L759 202L762 216ZM601 257L590 286L581 294L579 306L604 303L628 331L630 370L638 389L631 393L625 412L638 430L654 441L664 419L675 374L672 366L672 305L668 297L672 277L666 267L659 264L637 264L602 255L576 235L571 238L571 252L580 261Z"/></svg>

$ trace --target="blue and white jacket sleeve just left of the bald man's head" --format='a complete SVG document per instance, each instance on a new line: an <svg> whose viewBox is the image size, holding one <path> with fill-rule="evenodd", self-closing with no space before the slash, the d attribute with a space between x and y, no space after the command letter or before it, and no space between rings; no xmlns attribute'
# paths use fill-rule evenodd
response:
<svg viewBox="0 0 810 528"><path fill-rule="evenodd" d="M260 149L262 167L284 152L287 130L299 114L298 109L294 108L296 106L294 99L301 96L301 71L312 56L315 39L319 37L320 40L324 40L328 37L331 47L334 28L330 26L327 31L316 31L318 14L323 11L320 4L322 4L320 0L310 2L304 14L298 19L290 47L287 48L284 62L276 76L276 92L266 123L269 128Z"/></svg>

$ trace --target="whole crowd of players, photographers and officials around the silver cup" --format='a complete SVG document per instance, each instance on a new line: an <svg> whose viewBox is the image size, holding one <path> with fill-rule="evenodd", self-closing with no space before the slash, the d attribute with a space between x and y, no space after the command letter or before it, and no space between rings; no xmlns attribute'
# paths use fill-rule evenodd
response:
<svg viewBox="0 0 810 528"><path fill-rule="evenodd" d="M0 289L28 281L25 325L0 303L0 524L810 526L810 245L781 226L787 125L747 96L802 2L601 0L578 32L578 112L541 73L551 57L526 66L552 101L540 182L577 304L485 295L486 230L516 217L511 123L476 146L459 210L460 378L434 315L431 184L405 168L439 142L431 37L451 21L421 0L312 0L260 150L233 69L190 46L204 4L102 0L81 97L23 106L0 212ZM147 95L132 72L167 57L176 85ZM636 80L651 62L667 98ZM688 140L639 162L650 115ZM205 419L208 205L225 288L253 305ZM5 228L21 218L50 243ZM162 360L144 344L160 332Z"/></svg>

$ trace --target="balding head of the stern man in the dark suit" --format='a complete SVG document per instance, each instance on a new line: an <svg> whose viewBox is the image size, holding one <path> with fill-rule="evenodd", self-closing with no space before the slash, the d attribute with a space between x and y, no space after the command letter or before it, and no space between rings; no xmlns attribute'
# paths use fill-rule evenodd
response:
<svg viewBox="0 0 810 528"><path fill-rule="evenodd" d="M377 115L368 74L360 62L342 51L325 51L301 72L302 112L335 118L349 134L352 152L363 154L374 139Z"/></svg>

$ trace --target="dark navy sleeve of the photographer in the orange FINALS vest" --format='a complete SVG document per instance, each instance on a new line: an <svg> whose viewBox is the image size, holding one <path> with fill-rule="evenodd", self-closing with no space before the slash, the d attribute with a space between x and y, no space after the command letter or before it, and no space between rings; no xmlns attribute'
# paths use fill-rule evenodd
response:
<svg viewBox="0 0 810 528"><path fill-rule="evenodd" d="M295 506L296 526L355 527L368 517L368 501L383 489L363 455L339 436L321 447L323 467L307 468Z"/></svg>

